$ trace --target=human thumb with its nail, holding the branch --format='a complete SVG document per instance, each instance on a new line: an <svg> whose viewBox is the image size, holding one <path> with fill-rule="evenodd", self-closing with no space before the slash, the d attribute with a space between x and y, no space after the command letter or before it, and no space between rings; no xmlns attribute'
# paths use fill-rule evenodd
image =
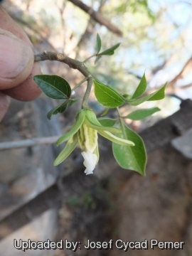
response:
<svg viewBox="0 0 192 256"><path fill-rule="evenodd" d="M9 31L0 28L0 90L16 87L33 68L33 50Z"/></svg>

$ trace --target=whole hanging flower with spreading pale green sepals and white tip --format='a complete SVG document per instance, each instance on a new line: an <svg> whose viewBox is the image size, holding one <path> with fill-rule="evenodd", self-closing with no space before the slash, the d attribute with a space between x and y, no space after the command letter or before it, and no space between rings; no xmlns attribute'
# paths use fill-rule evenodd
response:
<svg viewBox="0 0 192 256"><path fill-rule="evenodd" d="M85 109L78 113L76 122L70 128L70 131L60 137L56 142L58 146L68 140L64 149L55 159L54 166L64 161L75 149L75 146L79 144L82 149L82 156L85 159L83 162L86 167L85 174L92 174L92 171L95 169L95 165L99 161L97 132L114 143L134 146L134 142L127 139L121 139L112 134L121 132L118 128L102 126L102 124L97 120L95 113L90 109Z"/></svg>

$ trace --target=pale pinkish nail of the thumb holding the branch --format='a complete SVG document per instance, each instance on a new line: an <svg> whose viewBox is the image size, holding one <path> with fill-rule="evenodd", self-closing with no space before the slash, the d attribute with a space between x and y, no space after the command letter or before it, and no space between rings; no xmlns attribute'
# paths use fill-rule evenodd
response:
<svg viewBox="0 0 192 256"><path fill-rule="evenodd" d="M31 58L31 48L23 41L0 34L0 78L16 78Z"/></svg>

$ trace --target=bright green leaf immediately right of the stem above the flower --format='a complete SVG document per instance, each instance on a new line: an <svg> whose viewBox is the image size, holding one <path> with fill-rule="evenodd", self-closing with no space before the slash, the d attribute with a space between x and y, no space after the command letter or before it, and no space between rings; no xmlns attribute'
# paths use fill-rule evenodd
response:
<svg viewBox="0 0 192 256"><path fill-rule="evenodd" d="M95 97L102 106L113 108L119 107L124 103L124 97L116 92L116 90L107 85L102 85L95 80L93 82L95 85Z"/></svg>

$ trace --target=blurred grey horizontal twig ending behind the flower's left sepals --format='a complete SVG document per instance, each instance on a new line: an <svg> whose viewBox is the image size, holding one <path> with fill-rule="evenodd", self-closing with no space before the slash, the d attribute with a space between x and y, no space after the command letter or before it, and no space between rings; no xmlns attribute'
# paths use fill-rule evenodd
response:
<svg viewBox="0 0 192 256"><path fill-rule="evenodd" d="M23 139L18 142L1 142L0 151L7 150L7 149L21 149L23 147L28 147L28 146L53 144L58 140L58 138L59 136L52 136L52 137L42 137L42 138L33 138L33 139Z"/></svg>

